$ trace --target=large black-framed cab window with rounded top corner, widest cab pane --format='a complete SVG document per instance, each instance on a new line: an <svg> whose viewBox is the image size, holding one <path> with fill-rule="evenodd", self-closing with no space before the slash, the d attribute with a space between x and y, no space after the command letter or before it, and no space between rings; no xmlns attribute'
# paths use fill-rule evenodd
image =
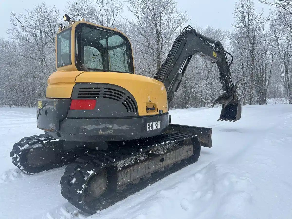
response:
<svg viewBox="0 0 292 219"><path fill-rule="evenodd" d="M131 45L124 35L93 25L80 25L77 54L81 65L93 71L133 73Z"/></svg>

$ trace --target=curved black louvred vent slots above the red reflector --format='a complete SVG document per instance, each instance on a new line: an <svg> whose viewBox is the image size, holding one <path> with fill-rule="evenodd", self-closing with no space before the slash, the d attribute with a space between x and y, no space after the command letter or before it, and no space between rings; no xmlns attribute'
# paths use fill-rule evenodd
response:
<svg viewBox="0 0 292 219"><path fill-rule="evenodd" d="M108 98L121 102L127 112L138 112L138 107L130 95L114 88L107 87L79 87L78 98L95 99Z"/></svg>

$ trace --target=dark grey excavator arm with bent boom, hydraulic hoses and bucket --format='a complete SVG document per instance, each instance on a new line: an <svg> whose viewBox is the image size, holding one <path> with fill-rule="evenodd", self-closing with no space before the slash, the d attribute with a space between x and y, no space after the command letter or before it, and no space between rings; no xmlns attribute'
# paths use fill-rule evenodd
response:
<svg viewBox="0 0 292 219"><path fill-rule="evenodd" d="M167 91L168 104L178 91L185 70L193 55L215 62L220 72L220 81L223 94L214 102L222 104L221 115L218 120L237 121L241 117L241 104L236 95L237 85L231 80L230 64L227 62L226 52L220 43L214 39L196 32L191 26L183 29L175 39L171 50L161 68L154 75L154 78L161 81ZM232 57L232 55L231 55Z"/></svg>

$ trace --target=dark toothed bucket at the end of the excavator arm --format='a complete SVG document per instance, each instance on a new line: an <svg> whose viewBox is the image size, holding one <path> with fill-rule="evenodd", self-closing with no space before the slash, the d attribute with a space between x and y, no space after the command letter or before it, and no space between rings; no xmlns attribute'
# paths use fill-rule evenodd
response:
<svg viewBox="0 0 292 219"><path fill-rule="evenodd" d="M222 121L237 121L241 117L241 104L240 101L232 101L232 103L227 103L225 105L224 103L222 104L222 109L221 109L221 114L219 120Z"/></svg>

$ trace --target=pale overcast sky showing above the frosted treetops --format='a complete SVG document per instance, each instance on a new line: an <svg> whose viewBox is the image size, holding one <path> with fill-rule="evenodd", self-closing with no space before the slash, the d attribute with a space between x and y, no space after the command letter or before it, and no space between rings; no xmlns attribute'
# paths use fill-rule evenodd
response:
<svg viewBox="0 0 292 219"><path fill-rule="evenodd" d="M43 0L48 6L56 5L61 13L65 11L67 0ZM33 8L35 5L41 4L43 1L37 0L0 0L0 37L7 37L6 29L10 27L10 12L15 11L22 13L25 9ZM258 3L254 0L258 11L264 8L264 14L269 14L269 7ZM206 27L211 25L221 29L231 30L231 24L234 21L232 12L235 0L177 0L178 7L186 10L190 17L190 25L198 25ZM124 16L131 16L124 9Z"/></svg>

